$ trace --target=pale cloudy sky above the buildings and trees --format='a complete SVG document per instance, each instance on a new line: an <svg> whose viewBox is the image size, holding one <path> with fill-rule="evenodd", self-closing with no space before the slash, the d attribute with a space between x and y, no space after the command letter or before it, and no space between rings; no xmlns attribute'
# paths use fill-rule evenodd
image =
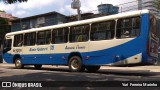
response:
<svg viewBox="0 0 160 90"><path fill-rule="evenodd" d="M97 10L99 4L119 5L133 0L80 0L81 11ZM72 0L28 0L28 2L4 4L0 2L0 10L11 13L15 17L24 18L38 14L57 11L64 15L73 15L77 11L71 8Z"/></svg>

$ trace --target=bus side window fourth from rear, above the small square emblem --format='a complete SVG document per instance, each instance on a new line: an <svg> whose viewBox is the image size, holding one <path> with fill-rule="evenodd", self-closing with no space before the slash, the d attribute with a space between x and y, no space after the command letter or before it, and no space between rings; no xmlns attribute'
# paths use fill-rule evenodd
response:
<svg viewBox="0 0 160 90"><path fill-rule="evenodd" d="M52 43L67 43L68 42L68 28L60 28L52 31Z"/></svg>

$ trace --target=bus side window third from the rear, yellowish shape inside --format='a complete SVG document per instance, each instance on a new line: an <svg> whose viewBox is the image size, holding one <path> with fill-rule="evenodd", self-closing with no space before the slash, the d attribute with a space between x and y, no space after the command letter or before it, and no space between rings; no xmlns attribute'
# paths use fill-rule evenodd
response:
<svg viewBox="0 0 160 90"><path fill-rule="evenodd" d="M89 39L90 25L74 26L70 29L70 42L86 42Z"/></svg>

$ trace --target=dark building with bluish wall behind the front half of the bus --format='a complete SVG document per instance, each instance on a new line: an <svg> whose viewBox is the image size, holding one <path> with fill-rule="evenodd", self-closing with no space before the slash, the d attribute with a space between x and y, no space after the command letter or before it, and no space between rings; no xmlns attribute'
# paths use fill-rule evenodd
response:
<svg viewBox="0 0 160 90"><path fill-rule="evenodd" d="M20 31L43 26L56 25L67 22L65 15L58 12L49 12L45 14L17 18L12 21L11 31Z"/></svg>

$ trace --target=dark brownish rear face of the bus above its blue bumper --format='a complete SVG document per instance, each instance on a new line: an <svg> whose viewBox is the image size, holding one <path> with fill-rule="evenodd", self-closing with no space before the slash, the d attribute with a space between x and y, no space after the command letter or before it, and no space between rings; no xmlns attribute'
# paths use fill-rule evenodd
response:
<svg viewBox="0 0 160 90"><path fill-rule="evenodd" d="M158 23L156 17L150 16L149 55L158 58Z"/></svg>

